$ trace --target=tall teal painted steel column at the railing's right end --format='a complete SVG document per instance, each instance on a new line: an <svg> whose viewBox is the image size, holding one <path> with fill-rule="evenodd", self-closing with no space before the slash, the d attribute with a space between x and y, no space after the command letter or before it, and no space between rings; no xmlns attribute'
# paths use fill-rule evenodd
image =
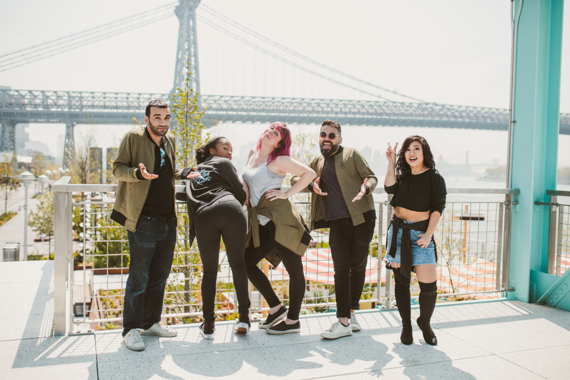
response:
<svg viewBox="0 0 570 380"><path fill-rule="evenodd" d="M519 7L515 0L515 15ZM529 301L530 270L546 272L547 189L556 189L564 0L523 0L516 42L509 293ZM514 282L514 284L513 284ZM533 301L533 300L531 300Z"/></svg>

